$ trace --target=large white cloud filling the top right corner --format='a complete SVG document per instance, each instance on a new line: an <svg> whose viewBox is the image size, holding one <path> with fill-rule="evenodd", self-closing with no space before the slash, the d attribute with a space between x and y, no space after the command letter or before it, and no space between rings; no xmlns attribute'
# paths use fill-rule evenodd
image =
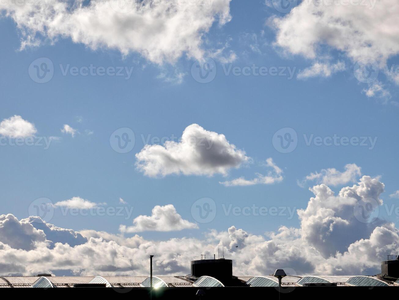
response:
<svg viewBox="0 0 399 300"><path fill-rule="evenodd" d="M314 62L302 76L328 75L329 68L318 64L318 61L331 60L331 53L338 51L341 58L346 57L352 63L365 58L375 59L380 65L380 73L399 83L395 74L385 72L383 67L389 58L399 54L398 13L399 3L396 0L371 0L356 4L346 1L301 1L286 16L271 18L269 24L277 32L275 46L282 48L286 54L300 55ZM371 93L372 90L369 91Z"/></svg>

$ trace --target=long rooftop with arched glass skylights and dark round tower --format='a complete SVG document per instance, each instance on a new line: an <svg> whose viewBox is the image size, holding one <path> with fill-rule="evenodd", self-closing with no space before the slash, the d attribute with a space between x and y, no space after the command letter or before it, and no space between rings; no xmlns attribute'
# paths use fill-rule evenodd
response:
<svg viewBox="0 0 399 300"><path fill-rule="evenodd" d="M395 257L395 259L393 259ZM205 258L205 256L201 256ZM392 259L391 259L392 258ZM233 276L233 261L201 259L191 262L191 274L186 276L0 276L0 288L179 288L179 287L279 287L272 275ZM284 270L276 270L284 272ZM399 260L389 256L381 262L381 274L376 276L284 276L282 287L296 286L399 286Z"/></svg>

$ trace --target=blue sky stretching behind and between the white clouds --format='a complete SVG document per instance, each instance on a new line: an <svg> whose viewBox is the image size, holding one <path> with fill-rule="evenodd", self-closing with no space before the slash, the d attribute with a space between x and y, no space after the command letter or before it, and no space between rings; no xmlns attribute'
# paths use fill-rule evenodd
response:
<svg viewBox="0 0 399 300"><path fill-rule="evenodd" d="M151 215L156 205L172 204L182 219L197 223L198 228L145 230L140 236L150 240L201 238L210 229L223 231L232 225L261 235L276 232L282 225L299 227L297 214L292 218L225 215L222 205L306 209L313 197L308 187L322 182L306 181L301 187L298 181L322 169L344 172L347 164L360 167L361 175L381 176L379 180L385 184L381 199L396 207L397 199L389 197L399 189L395 158L399 146L399 107L395 102L394 80L380 72L373 83L359 82L353 72L356 56L331 44L320 42L317 58L292 53L295 51L290 52L283 42L276 44L278 30L270 25L271 18L286 15L270 3L233 0L229 8L232 17L229 22L215 21L199 35L200 49L214 54L211 59L217 74L209 83L195 80L191 70L198 58L187 51L173 62L164 59L159 63L141 50L121 54L113 47L93 47L90 43L74 42L69 36L46 36L43 32L36 34L39 46L30 45L21 50L29 29L23 24L24 29L18 29L15 18L0 18L0 120L18 115L34 124L36 137L55 137L48 149L9 144L0 147L2 214L27 218L32 201L41 197L52 203L81 197L93 203L107 203L105 207L134 207L129 219L126 215L63 215L61 208L55 207L53 218L48 220L62 228L118 234L120 225L131 226L139 215ZM222 49L221 54L215 54L215 49ZM375 59L380 64L394 65L396 54L384 56L383 51ZM53 77L45 83L35 82L28 72L31 63L40 58L48 58L54 66ZM297 78L315 62L326 64L331 74ZM334 69L337 62L344 66ZM128 70L133 67L133 70L128 79L126 73L124 76L63 75L67 65ZM230 65L240 70L255 65L295 71L290 79L287 75L225 75L223 68ZM377 87L380 95L367 95L365 90L376 87L376 82L383 86L383 91ZM76 130L74 136L61 132L65 124ZM181 137L191 124L225 135L237 150L245 151L249 161L229 168L226 175L211 176L171 174L154 178L137 168L135 155L146 144L143 137ZM118 153L111 147L110 137L125 127L134 132L134 147L128 153ZM273 136L284 128L292 128L298 136L298 145L290 153L281 153L273 146ZM367 146L306 145L311 135L323 139L334 135L348 139L366 137ZM368 144L369 138L375 141L372 146ZM281 169L282 180L231 187L220 183L239 177L251 180L255 173L271 172L275 176L266 165L268 158ZM356 184L361 175L328 186L338 194L342 187ZM217 214L213 221L200 224L191 209L193 203L204 197L215 201ZM121 204L120 198L127 204ZM395 214L387 216L383 207L379 209L379 217L392 222L398 219Z"/></svg>

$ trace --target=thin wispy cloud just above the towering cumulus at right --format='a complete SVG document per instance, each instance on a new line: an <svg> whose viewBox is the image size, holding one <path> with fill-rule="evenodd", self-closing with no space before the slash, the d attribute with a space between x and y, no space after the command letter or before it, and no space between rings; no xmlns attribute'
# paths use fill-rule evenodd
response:
<svg viewBox="0 0 399 300"><path fill-rule="evenodd" d="M335 168L322 169L320 172L310 173L302 181L298 181L300 187L304 187L307 181L316 181L326 185L344 185L348 182L355 182L361 175L361 167L354 163L345 165L345 171L340 172Z"/></svg>

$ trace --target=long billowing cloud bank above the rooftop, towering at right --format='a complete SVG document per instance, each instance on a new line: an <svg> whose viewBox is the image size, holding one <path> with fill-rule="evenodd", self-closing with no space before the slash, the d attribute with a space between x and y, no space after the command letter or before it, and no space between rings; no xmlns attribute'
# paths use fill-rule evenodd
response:
<svg viewBox="0 0 399 300"><path fill-rule="evenodd" d="M87 242L71 246L60 240L50 248L43 242L47 238L43 237L43 230L37 230L40 234L34 237L28 234L27 240L35 241L33 246L23 250L10 244L19 234L24 236L24 230L10 230L8 227L14 228L18 221L12 215L2 216L2 220L14 219L0 223L2 272L32 275L69 270L87 276L138 276L147 274L147 259L152 254L156 257L154 274L189 274L190 260L198 259L199 254L212 256L218 247L224 246L225 257L234 260L235 275L267 275L277 268L298 275L373 275L380 272L380 262L387 253L398 253L399 230L393 224L380 219L363 222L354 213L359 206L368 207L368 203L376 210L383 204L379 196L384 184L378 179L363 176L358 184L344 187L338 195L324 184L311 191L314 197L306 209L298 211L299 228L281 226L277 232L266 235L253 235L231 226L227 231L211 230L202 239L153 241L138 235L125 238L83 230L80 233L87 237ZM28 232L31 230L32 227Z"/></svg>

